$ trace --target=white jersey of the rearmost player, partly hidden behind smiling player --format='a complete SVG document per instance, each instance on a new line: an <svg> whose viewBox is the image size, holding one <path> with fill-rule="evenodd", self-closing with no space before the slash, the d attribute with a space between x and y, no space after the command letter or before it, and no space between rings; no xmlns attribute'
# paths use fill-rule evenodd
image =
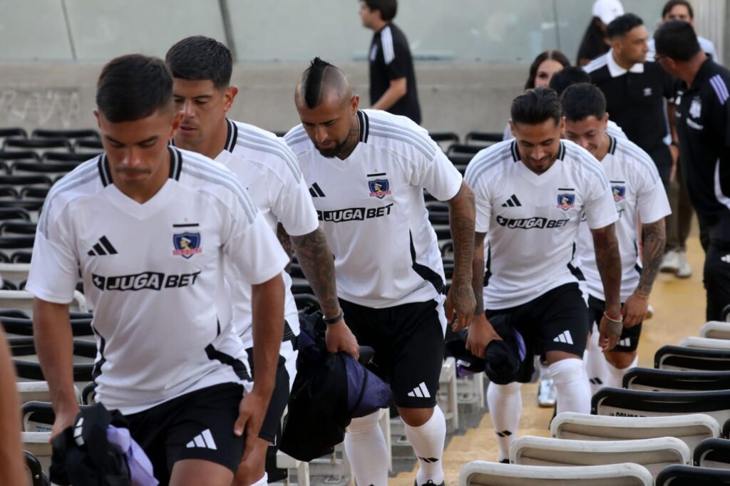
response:
<svg viewBox="0 0 730 486"><path fill-rule="evenodd" d="M634 142L610 137L608 153L601 161L608 176L618 212L616 236L621 252L621 301L625 302L639 285L639 218L656 223L669 215L669 200L656 165ZM605 300L601 275L596 266L593 236L585 220L580 225L578 259L591 296Z"/></svg>

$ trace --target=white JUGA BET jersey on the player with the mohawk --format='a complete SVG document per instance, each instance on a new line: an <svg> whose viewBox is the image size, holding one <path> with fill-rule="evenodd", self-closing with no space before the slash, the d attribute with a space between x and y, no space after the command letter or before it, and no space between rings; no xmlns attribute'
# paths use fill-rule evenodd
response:
<svg viewBox="0 0 730 486"><path fill-rule="evenodd" d="M337 293L372 308L439 298L444 271L423 189L447 201L463 178L407 117L365 109L358 120L344 161L320 155L301 125L285 136L334 252Z"/></svg>

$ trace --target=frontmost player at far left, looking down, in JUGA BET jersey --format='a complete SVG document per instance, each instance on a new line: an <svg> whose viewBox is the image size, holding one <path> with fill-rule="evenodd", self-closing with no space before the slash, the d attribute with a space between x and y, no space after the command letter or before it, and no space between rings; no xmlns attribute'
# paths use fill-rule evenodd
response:
<svg viewBox="0 0 730 486"><path fill-rule="evenodd" d="M126 416L161 484L230 485L274 387L286 255L234 174L169 147L182 114L163 61L110 61L96 105L105 152L50 190L26 286L53 436L78 412L69 302L81 274L97 400ZM224 271L251 286L253 389Z"/></svg>

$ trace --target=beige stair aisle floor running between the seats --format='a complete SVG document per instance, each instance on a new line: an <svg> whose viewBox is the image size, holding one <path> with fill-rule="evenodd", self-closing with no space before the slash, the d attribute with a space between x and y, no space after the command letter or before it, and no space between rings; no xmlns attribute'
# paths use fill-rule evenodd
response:
<svg viewBox="0 0 730 486"><path fill-rule="evenodd" d="M702 265L704 253L699 239L688 241L688 262L694 274L688 279L677 279L672 274L660 274L654 284L651 304L655 313L646 321L639 344L639 365L653 367L654 352L664 344L677 344L685 336L696 336L704 323L704 288L702 288ZM552 409L540 409L536 399L537 385L523 386L523 413L520 420L520 435L548 436L548 425ZM483 417L479 428L466 431L463 436L454 436L444 453L447 486L458 484L461 466L470 460L496 460L497 445L494 440L491 418ZM416 468L391 479L390 486L411 486Z"/></svg>

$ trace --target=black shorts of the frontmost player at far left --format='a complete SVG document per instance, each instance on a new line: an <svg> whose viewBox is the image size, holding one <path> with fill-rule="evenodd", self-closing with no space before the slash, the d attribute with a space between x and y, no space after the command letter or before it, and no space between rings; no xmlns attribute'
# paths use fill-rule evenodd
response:
<svg viewBox="0 0 730 486"><path fill-rule="evenodd" d="M202 388L136 414L126 415L129 431L152 462L161 485L178 460L210 460L236 473L245 437L233 433L243 385Z"/></svg>

